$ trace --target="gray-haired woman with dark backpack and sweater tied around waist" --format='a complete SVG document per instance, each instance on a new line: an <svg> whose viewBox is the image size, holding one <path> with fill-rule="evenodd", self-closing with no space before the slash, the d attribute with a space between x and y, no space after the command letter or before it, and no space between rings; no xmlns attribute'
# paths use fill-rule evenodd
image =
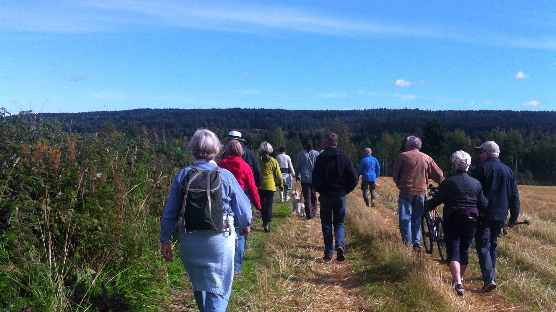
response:
<svg viewBox="0 0 556 312"><path fill-rule="evenodd" d="M234 175L217 167L220 148L211 131L193 134L189 149L195 161L176 174L162 212L162 256L173 261L170 238L181 217L180 259L201 311L226 310L234 278L234 223L239 235L250 232L251 204Z"/></svg>

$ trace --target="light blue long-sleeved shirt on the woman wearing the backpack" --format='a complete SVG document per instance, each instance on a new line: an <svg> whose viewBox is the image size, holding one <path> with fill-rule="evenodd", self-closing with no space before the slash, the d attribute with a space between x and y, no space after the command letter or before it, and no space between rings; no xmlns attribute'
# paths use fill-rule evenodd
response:
<svg viewBox="0 0 556 312"><path fill-rule="evenodd" d="M211 170L216 168L215 162L205 162L204 160L196 160L193 165L201 168L202 170ZM185 177L187 172L192 167L181 169L173 180L172 188L170 189L170 197L166 202L166 206L162 212L162 221L160 229L160 241L169 241L173 229L176 227L182 208L183 199L181 198L181 185L180 182ZM230 217L234 218L236 227L247 228L251 223L251 202L240 185L237 183L234 175L226 169L220 169L222 174L222 201L224 202L224 209L222 213L224 218L231 208ZM181 231L181 229L180 229Z"/></svg>

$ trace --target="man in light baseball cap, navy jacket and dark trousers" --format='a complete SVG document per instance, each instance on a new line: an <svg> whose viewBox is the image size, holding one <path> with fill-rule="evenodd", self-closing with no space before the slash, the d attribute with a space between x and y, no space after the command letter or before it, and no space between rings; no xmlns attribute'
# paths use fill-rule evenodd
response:
<svg viewBox="0 0 556 312"><path fill-rule="evenodd" d="M481 163L471 177L483 185L483 192L488 199L488 209L483 213L481 224L475 233L475 248L479 256L479 265L483 275L483 291L496 288L494 272L498 254L498 235L502 224L510 211L510 228L515 227L519 215L519 193L515 175L507 165L500 162L500 148L494 141L488 141L476 147Z"/></svg>

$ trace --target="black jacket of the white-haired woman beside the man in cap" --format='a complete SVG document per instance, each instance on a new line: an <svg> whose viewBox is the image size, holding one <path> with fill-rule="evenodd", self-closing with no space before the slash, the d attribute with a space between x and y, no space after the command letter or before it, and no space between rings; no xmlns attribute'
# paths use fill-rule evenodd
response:
<svg viewBox="0 0 556 312"><path fill-rule="evenodd" d="M467 173L458 173L440 183L438 193L425 203L425 212L444 204L443 219L450 218L456 210L465 207L476 207L484 214L488 200L483 195L483 187L478 180Z"/></svg>

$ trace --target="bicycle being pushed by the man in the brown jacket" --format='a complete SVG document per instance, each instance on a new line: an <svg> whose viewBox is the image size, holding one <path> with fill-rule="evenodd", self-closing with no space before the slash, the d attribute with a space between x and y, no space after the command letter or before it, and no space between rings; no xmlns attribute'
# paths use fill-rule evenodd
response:
<svg viewBox="0 0 556 312"><path fill-rule="evenodd" d="M427 194L425 196L425 203L428 198L432 198L436 193L438 193L438 187L433 187L429 184L426 188ZM425 251L428 254L433 253L433 245L436 241L438 245L438 253L443 261L446 261L446 243L444 240L444 230L442 227L442 217L438 212L438 208L434 208L433 211L428 213L423 213L421 217L421 236L423 236L423 245L425 246Z"/></svg>

